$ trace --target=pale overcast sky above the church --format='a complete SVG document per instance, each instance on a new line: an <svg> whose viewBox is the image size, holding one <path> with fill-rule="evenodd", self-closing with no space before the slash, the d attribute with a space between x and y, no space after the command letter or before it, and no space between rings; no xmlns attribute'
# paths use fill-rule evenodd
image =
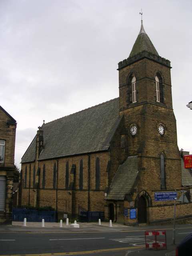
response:
<svg viewBox="0 0 192 256"><path fill-rule="evenodd" d="M179 149L192 152L191 0L0 0L0 105L17 121L15 162L43 120L118 97L118 62L144 29L171 61Z"/></svg>

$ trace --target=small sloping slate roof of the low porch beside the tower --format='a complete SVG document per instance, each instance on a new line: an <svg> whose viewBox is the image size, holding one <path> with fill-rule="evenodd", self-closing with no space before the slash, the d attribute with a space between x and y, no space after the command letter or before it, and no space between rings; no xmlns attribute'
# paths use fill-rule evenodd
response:
<svg viewBox="0 0 192 256"><path fill-rule="evenodd" d="M137 156L128 156L126 161L119 166L110 185L107 200L124 200L130 193L138 174Z"/></svg>

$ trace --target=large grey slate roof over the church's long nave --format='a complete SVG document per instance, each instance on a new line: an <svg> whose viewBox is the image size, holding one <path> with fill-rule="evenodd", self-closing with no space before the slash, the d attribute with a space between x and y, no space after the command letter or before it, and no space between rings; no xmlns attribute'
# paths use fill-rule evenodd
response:
<svg viewBox="0 0 192 256"><path fill-rule="evenodd" d="M108 150L120 122L119 98L43 124L44 149L39 160ZM22 157L33 162L36 137Z"/></svg>

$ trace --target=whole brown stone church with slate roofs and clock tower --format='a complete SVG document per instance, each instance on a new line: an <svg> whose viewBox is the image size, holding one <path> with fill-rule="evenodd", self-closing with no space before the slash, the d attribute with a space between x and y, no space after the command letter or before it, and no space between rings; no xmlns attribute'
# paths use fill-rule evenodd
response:
<svg viewBox="0 0 192 256"><path fill-rule="evenodd" d="M22 205L125 224L171 219L183 185L170 69L141 24L118 63L119 97L38 128L22 157ZM176 214L189 217L192 204L177 202Z"/></svg>

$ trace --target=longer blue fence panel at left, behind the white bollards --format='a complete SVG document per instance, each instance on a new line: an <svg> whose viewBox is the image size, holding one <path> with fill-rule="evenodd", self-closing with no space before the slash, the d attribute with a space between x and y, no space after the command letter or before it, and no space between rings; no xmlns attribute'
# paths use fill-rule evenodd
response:
<svg viewBox="0 0 192 256"><path fill-rule="evenodd" d="M44 219L45 222L57 222L57 214L55 211L39 211L26 208L13 208L13 221L23 221L24 218L30 222L41 222L42 219Z"/></svg>

